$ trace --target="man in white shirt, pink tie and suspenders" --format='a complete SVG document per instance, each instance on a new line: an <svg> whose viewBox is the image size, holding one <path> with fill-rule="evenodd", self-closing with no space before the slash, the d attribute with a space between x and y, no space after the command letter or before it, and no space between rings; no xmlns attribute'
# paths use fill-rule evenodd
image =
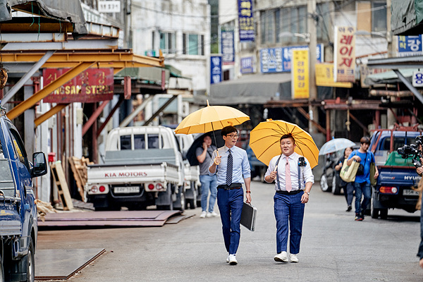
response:
<svg viewBox="0 0 423 282"><path fill-rule="evenodd" d="M288 262L288 227L290 230L290 262L298 262L305 203L314 183L312 168L305 157L294 152L292 135L281 137L281 155L271 159L264 180L276 180L274 212L276 218L276 262ZM289 223L289 226L288 226Z"/></svg>

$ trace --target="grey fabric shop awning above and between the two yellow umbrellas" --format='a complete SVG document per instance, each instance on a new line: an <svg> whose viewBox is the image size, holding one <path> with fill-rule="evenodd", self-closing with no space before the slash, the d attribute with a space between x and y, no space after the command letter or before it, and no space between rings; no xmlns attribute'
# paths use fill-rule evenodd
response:
<svg viewBox="0 0 423 282"><path fill-rule="evenodd" d="M290 73L243 75L210 86L210 104L265 104L290 99Z"/></svg>

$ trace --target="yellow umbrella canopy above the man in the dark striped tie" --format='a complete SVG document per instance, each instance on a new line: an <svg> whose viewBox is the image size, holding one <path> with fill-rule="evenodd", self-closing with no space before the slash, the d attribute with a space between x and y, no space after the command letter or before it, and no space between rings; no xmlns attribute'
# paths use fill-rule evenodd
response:
<svg viewBox="0 0 423 282"><path fill-rule="evenodd" d="M228 125L238 125L250 117L231 106L207 106L183 119L175 130L176 134L208 133Z"/></svg>

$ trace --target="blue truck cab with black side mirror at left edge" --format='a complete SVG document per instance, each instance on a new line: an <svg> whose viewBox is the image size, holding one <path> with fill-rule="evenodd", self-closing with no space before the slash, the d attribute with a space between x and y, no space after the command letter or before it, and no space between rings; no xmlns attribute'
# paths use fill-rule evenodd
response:
<svg viewBox="0 0 423 282"><path fill-rule="evenodd" d="M0 102L0 281L34 281L37 207L32 178L47 173L42 152L27 159Z"/></svg>

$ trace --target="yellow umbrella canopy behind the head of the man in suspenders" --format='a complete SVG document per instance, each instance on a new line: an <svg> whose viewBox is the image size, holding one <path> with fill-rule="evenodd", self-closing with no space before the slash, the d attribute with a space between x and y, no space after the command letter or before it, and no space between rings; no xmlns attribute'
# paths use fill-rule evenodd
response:
<svg viewBox="0 0 423 282"><path fill-rule="evenodd" d="M271 119L259 123L250 132L250 147L257 159L269 166L271 158L281 154L279 140L282 135L289 133L295 140L295 152L306 157L312 168L317 166L319 149L314 144L312 136L294 123L272 121Z"/></svg>

